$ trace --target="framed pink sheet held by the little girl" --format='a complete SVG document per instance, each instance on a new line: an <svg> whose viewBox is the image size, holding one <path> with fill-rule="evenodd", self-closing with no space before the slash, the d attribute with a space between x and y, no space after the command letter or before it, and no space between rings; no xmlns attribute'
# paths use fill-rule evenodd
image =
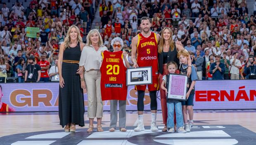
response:
<svg viewBox="0 0 256 145"><path fill-rule="evenodd" d="M187 82L188 79L186 75L170 74L167 98L186 101Z"/></svg>

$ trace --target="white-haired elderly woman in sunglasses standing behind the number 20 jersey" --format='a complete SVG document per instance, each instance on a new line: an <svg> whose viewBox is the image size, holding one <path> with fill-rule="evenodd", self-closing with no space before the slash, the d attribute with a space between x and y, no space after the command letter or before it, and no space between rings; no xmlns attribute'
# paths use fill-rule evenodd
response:
<svg viewBox="0 0 256 145"><path fill-rule="evenodd" d="M111 41L111 46L114 48L114 52L121 51L123 48L123 40L119 37L114 38ZM130 66L128 62L128 54L123 51L123 64L127 68ZM119 130L126 132L126 100L110 100L110 132L116 130L117 122L117 101L119 101Z"/></svg>

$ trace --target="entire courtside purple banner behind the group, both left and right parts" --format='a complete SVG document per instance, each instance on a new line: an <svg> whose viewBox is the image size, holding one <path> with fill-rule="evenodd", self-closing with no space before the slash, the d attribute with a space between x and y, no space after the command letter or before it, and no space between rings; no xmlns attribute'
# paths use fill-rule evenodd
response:
<svg viewBox="0 0 256 145"><path fill-rule="evenodd" d="M256 80L197 81L194 109L256 109ZM2 83L0 101L15 111L58 111L59 83ZM84 90L85 110L87 110ZM161 110L160 93L157 93L158 110ZM103 101L104 110L110 109ZM144 98L145 110L150 110L149 92ZM128 86L126 110L137 110L137 91Z"/></svg>

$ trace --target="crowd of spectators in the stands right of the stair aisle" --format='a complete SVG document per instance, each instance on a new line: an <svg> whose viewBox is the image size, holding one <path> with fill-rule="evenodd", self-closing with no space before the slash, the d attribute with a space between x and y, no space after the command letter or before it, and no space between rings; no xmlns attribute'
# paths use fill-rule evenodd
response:
<svg viewBox="0 0 256 145"><path fill-rule="evenodd" d="M256 19L248 15L245 0L103 0L95 28L109 50L111 39L121 37L130 52L143 16L152 18L155 33L171 28L173 41L182 41L190 52L199 80L245 79L256 73Z"/></svg>

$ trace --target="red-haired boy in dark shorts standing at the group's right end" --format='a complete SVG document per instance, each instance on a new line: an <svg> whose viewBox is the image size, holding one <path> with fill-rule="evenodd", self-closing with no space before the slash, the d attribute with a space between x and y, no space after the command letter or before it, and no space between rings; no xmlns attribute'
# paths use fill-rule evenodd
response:
<svg viewBox="0 0 256 145"><path fill-rule="evenodd" d="M187 68L188 67L192 67L191 68L191 74L188 78L188 91L186 94L186 99L187 101L182 101L182 110L183 110L183 119L184 119L184 123L185 123L185 130L187 132L190 132L192 126L193 126L193 100L194 100L194 85L196 83L197 80L197 72L196 69L194 68L194 66L188 66L187 65L187 61L189 59L189 55L190 53L183 49L181 51L178 52L178 58L180 59L180 62L182 63L180 65L180 74L187 74ZM187 123L187 110L188 110L188 115L190 117L190 122Z"/></svg>

